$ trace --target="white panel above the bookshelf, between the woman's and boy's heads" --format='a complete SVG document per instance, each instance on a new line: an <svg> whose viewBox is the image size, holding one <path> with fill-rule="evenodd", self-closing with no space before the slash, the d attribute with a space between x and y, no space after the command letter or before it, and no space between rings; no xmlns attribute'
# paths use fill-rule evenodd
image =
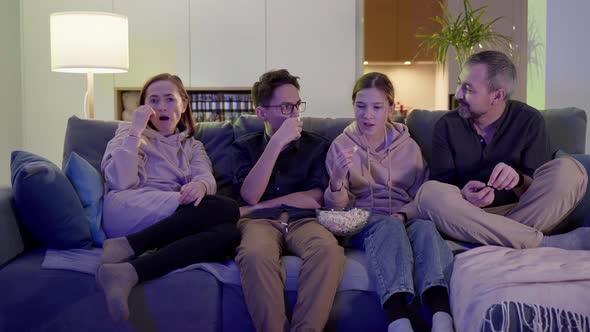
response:
<svg viewBox="0 0 590 332"><path fill-rule="evenodd" d="M265 0L190 1L191 86L251 86L265 46Z"/></svg>

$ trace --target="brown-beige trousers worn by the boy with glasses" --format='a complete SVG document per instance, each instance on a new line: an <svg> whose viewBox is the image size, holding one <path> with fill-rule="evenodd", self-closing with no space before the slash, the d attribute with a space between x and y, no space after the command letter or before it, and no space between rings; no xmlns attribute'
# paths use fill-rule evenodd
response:
<svg viewBox="0 0 590 332"><path fill-rule="evenodd" d="M322 331L328 321L344 265L344 249L315 218L289 223L280 220L241 219L242 242L236 262L242 289L256 331ZM291 323L285 308L284 249L301 257L297 303Z"/></svg>

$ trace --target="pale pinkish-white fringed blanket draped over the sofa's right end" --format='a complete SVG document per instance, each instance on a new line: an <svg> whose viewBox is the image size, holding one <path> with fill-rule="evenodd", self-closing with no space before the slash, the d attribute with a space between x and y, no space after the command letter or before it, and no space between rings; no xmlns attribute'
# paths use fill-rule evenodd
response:
<svg viewBox="0 0 590 332"><path fill-rule="evenodd" d="M590 251L475 248L455 258L450 289L459 332L480 331L486 311L507 301L569 311L579 315L581 324L587 324Z"/></svg>

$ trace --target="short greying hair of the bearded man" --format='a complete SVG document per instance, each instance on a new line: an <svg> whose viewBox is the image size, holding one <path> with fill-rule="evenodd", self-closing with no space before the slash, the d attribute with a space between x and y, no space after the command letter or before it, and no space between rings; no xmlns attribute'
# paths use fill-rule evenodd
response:
<svg viewBox="0 0 590 332"><path fill-rule="evenodd" d="M472 54L465 61L466 66L484 64L488 69L488 89L496 91L503 88L506 99L510 98L516 86L516 67L508 56L498 51L483 51Z"/></svg>

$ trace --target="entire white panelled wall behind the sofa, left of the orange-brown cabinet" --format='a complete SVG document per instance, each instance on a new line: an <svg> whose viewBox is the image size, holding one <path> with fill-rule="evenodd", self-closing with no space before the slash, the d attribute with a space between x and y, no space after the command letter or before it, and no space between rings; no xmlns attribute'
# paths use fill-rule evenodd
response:
<svg viewBox="0 0 590 332"><path fill-rule="evenodd" d="M156 72L177 73L197 88L249 87L263 71L276 68L301 76L308 116L340 116L349 104L360 67L359 1L257 0L256 9L247 0L21 0L21 77L26 101L22 121L27 124L23 148L61 164L67 119L84 116L85 75L50 69L49 15L53 12L115 11L129 17L130 70L95 75L97 119L115 118L116 87L140 87ZM207 16L210 20L204 22L211 24L203 25L199 13L219 20ZM219 23L224 20L236 20L236 25ZM209 35L225 39L207 39ZM207 48L204 41L212 47ZM242 49L251 52L242 57ZM224 64L230 60L233 67L227 68ZM228 80L236 77L240 80Z"/></svg>

